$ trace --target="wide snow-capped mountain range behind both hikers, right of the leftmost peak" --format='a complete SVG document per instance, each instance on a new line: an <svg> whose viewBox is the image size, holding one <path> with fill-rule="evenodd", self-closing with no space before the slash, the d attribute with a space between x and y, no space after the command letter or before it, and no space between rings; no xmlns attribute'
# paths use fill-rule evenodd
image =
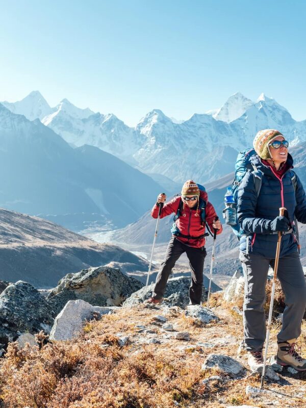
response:
<svg viewBox="0 0 306 408"><path fill-rule="evenodd" d="M194 114L183 123L175 123L159 109L145 115L135 128L113 114L90 113L63 100L42 122L74 146L99 147L143 172L176 183L191 177L207 183L231 172L237 152L251 146L261 129L281 131L291 145L306 141L306 120L295 121L264 94L252 102L238 92L217 111Z"/></svg>

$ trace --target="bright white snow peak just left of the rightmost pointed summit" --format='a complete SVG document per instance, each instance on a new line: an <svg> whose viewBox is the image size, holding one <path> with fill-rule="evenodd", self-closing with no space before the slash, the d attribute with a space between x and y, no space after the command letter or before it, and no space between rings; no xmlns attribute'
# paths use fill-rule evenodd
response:
<svg viewBox="0 0 306 408"><path fill-rule="evenodd" d="M213 114L216 120L223 122L233 122L245 113L254 103L242 95L240 92L230 96L225 104Z"/></svg>

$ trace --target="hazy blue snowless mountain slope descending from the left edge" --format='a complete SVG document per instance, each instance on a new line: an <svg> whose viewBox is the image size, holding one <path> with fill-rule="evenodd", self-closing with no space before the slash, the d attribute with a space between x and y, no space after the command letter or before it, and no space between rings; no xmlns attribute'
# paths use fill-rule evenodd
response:
<svg viewBox="0 0 306 408"><path fill-rule="evenodd" d="M95 214L95 221L124 225L148 210L163 189L107 152L88 145L73 149L39 120L1 104L0 173L0 207L54 215L55 221L74 214L83 222Z"/></svg>

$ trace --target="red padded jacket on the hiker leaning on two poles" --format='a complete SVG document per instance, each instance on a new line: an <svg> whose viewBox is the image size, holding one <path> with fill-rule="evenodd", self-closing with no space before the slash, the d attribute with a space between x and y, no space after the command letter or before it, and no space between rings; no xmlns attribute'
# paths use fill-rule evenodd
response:
<svg viewBox="0 0 306 408"><path fill-rule="evenodd" d="M201 197L205 199L207 202L206 206L206 222L208 223L211 231L213 229L213 220L216 218L217 214L213 205L207 201L207 193L205 196ZM175 197L171 201L167 202L164 207L162 208L161 218L166 217L172 213L176 214L177 210L179 209L181 197ZM153 218L158 217L159 207L157 204L152 208L151 216ZM199 237L205 234L205 225L202 225L200 211L198 210L198 215L196 216L196 208L189 208L187 205L184 205L182 210L182 215L177 218L175 221L176 226L179 228L180 232L184 235L190 235L192 237ZM222 232L222 225L220 230L218 230L217 235L221 234ZM183 242L186 245L193 246L194 248L201 248L205 245L205 238L202 237L200 239L191 239L191 238L183 238L183 237L176 237L179 241Z"/></svg>

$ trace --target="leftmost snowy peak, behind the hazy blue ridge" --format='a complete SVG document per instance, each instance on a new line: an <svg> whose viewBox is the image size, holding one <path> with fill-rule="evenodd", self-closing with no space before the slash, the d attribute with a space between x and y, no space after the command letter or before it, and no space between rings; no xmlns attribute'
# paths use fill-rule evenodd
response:
<svg viewBox="0 0 306 408"><path fill-rule="evenodd" d="M39 91L33 91L22 100L14 103L7 101L1 103L11 112L24 115L29 120L42 120L52 112L52 109Z"/></svg>

